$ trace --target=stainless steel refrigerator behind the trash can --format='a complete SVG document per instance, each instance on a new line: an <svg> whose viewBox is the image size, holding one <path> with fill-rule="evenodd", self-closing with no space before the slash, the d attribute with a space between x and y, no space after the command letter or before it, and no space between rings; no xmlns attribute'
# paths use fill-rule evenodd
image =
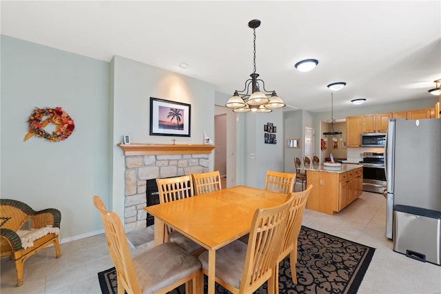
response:
<svg viewBox="0 0 441 294"><path fill-rule="evenodd" d="M393 206L441 211L441 119L391 119L385 146L386 236Z"/></svg>

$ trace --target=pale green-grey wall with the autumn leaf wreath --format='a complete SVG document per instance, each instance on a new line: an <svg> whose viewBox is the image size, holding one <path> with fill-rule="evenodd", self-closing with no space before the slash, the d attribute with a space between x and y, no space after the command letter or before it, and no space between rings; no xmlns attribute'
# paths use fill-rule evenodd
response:
<svg viewBox="0 0 441 294"><path fill-rule="evenodd" d="M63 238L103 228L92 197L109 197L108 85L107 62L1 36L0 195L61 210ZM32 110L57 106L74 133L23 142Z"/></svg>

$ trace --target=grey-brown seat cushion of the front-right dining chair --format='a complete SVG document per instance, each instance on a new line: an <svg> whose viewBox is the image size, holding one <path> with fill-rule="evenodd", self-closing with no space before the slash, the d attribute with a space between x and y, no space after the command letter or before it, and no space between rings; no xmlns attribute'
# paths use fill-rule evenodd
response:
<svg viewBox="0 0 441 294"><path fill-rule="evenodd" d="M239 288L247 257L247 244L236 240L216 251L216 277ZM208 251L198 256L202 268L208 271Z"/></svg>

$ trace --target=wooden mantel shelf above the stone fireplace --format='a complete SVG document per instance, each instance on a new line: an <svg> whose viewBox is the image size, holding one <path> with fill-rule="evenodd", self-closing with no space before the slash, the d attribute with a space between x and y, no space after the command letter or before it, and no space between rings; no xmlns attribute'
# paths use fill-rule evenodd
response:
<svg viewBox="0 0 441 294"><path fill-rule="evenodd" d="M124 155L209 154L215 145L203 144L117 144Z"/></svg>

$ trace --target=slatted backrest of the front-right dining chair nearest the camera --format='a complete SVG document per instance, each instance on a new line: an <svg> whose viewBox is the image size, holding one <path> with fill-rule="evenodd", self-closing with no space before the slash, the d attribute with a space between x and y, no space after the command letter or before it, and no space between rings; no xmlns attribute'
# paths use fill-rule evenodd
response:
<svg viewBox="0 0 441 294"><path fill-rule="evenodd" d="M280 206L257 209L249 233L245 268L240 282L240 293L252 293L271 278L280 252L293 197Z"/></svg>

